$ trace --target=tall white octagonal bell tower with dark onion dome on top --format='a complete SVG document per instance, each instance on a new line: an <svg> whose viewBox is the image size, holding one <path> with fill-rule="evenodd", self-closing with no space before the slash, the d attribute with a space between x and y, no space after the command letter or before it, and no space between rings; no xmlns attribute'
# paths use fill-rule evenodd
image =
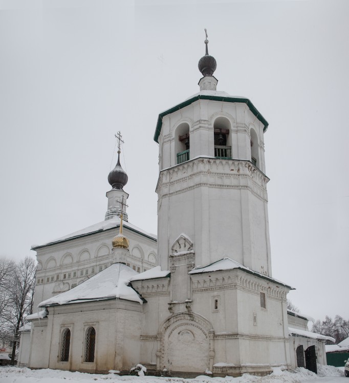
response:
<svg viewBox="0 0 349 383"><path fill-rule="evenodd" d="M271 276L268 123L249 99L216 90L207 33L205 45L200 91L162 112L155 131L160 265L168 269L169 259L185 250L176 245L183 236L194 266L229 257Z"/></svg>

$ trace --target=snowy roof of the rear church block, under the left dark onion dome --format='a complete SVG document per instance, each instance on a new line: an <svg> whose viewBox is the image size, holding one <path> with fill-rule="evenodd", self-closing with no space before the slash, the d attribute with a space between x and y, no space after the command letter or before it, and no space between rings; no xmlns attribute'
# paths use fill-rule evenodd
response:
<svg viewBox="0 0 349 383"><path fill-rule="evenodd" d="M134 231L136 233L142 234L142 235L150 238L151 240L157 241L156 234L148 233L148 232L140 229L139 227L132 225L126 221L123 221L122 225L124 228L127 228L127 229ZM36 250L36 249L39 249L40 247L53 245L53 244L63 242L63 241L73 240L74 238L79 238L79 237L82 237L85 235L91 235L91 234L98 233L98 232L105 231L105 230L109 230L109 229L116 229L119 226L120 226L120 218L119 217L113 217L109 220L98 222L92 226L88 226L88 227L85 227L84 229L75 231L74 233L67 234L67 235L64 235L62 237L56 238L55 240L49 241L45 244L32 245L32 250Z"/></svg>

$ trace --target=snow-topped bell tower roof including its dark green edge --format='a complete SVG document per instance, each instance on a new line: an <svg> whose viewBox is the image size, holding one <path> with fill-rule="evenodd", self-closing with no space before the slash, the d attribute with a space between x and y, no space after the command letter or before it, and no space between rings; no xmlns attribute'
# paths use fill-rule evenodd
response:
<svg viewBox="0 0 349 383"><path fill-rule="evenodd" d="M267 120L263 117L263 115L261 115L259 113L257 108L246 97L232 96L232 95L229 95L226 92L219 91L219 90L202 90L199 93L195 93L190 98L188 98L185 101L183 101L182 103L174 105L172 108L164 110L163 112L161 112L159 114L157 126L156 126L156 129L155 129L155 134L154 134L154 141L158 142L159 135L160 135L161 128L162 128L162 119L163 119L164 116L166 116L167 114L176 112L177 110L180 110L182 108L185 108L186 106L188 106L188 105L192 104L193 102L198 101L200 99L201 100L213 100L213 101L222 101L222 102L230 102L230 103L244 103L244 104L247 104L247 106L249 107L250 111L264 125L264 129L263 130L266 131L267 128L268 128L269 124L268 124Z"/></svg>

